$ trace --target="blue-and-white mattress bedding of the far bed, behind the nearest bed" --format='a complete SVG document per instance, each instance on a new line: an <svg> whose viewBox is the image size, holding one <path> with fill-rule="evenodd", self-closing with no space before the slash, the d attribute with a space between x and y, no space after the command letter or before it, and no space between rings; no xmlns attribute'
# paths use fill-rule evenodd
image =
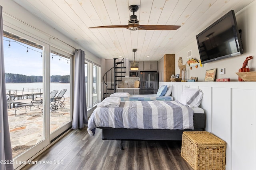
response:
<svg viewBox="0 0 256 170"><path fill-rule="evenodd" d="M172 96L157 96L156 94L130 94L129 97L121 98L121 101L172 101Z"/></svg>

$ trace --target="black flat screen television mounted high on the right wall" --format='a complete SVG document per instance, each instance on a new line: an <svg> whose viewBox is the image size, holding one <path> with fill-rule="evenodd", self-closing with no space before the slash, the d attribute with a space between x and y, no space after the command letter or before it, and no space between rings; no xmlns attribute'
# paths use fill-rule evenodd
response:
<svg viewBox="0 0 256 170"><path fill-rule="evenodd" d="M242 41L233 10L196 35L201 63L225 59L243 53Z"/></svg>

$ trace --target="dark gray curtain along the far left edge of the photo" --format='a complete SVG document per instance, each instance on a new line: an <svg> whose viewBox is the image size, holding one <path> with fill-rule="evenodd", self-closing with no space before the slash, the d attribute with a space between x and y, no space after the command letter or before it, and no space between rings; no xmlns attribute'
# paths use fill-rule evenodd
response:
<svg viewBox="0 0 256 170"><path fill-rule="evenodd" d="M10 140L9 121L7 112L5 76L4 76L4 45L3 45L3 7L0 6L0 170L13 170L12 147ZM3 162L4 161L4 162ZM9 164L5 164L8 163Z"/></svg>

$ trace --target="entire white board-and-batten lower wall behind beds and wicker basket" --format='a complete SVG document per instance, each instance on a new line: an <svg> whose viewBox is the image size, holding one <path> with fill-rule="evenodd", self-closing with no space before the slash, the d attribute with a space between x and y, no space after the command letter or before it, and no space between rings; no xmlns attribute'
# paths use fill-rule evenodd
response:
<svg viewBox="0 0 256 170"><path fill-rule="evenodd" d="M256 82L159 82L172 86L174 100L186 87L199 88L205 130L227 143L226 170L254 170L256 160Z"/></svg>

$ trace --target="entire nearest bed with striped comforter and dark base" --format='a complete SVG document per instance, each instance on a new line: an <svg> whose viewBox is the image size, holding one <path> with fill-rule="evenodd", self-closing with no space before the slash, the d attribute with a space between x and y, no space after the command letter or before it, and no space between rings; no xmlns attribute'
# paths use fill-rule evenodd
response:
<svg viewBox="0 0 256 170"><path fill-rule="evenodd" d="M200 91L188 92L179 101L121 102L110 97L94 110L87 130L94 136L96 128L102 129L104 140L182 140L183 131L203 131L205 127L204 110L198 107L201 99ZM114 100L119 105L110 106Z"/></svg>

